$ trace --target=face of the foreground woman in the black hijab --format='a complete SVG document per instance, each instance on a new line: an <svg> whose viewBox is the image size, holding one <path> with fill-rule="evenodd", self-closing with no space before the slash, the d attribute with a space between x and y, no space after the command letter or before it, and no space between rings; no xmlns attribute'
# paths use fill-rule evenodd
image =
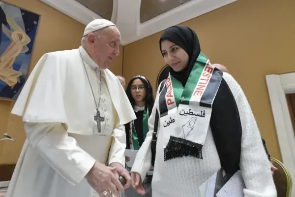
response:
<svg viewBox="0 0 295 197"><path fill-rule="evenodd" d="M188 54L180 46L168 40L163 40L161 42L161 49L165 62L174 71L181 71L188 65Z"/></svg>

